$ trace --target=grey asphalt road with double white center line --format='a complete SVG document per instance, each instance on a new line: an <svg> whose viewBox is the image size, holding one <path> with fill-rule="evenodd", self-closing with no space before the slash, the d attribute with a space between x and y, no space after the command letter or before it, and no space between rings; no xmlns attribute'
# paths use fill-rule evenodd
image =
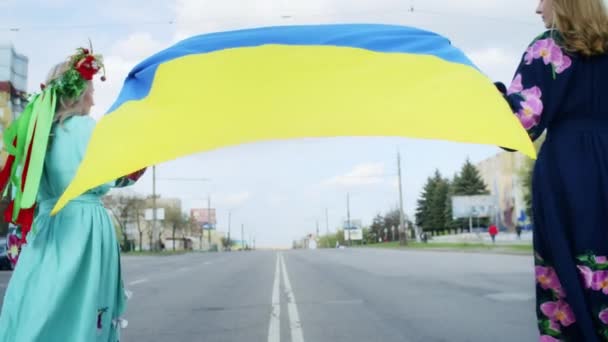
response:
<svg viewBox="0 0 608 342"><path fill-rule="evenodd" d="M125 257L123 273L126 342L538 340L526 256L234 252Z"/></svg>

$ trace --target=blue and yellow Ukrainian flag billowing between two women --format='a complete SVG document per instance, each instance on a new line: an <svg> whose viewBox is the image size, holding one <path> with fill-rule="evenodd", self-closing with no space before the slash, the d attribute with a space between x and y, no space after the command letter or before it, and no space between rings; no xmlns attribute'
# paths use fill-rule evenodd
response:
<svg viewBox="0 0 608 342"><path fill-rule="evenodd" d="M57 204L159 162L258 141L394 136L534 147L493 83L433 32L376 24L186 39L137 65Z"/></svg>

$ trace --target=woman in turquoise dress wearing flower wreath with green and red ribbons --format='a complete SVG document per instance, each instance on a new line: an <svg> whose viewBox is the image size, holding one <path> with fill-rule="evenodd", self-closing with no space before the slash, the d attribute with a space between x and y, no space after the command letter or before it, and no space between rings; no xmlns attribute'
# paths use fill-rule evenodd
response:
<svg viewBox="0 0 608 342"><path fill-rule="evenodd" d="M50 212L70 184L95 127L88 114L101 56L80 48L49 73L5 132L0 188L14 194L5 219L25 245L6 290L0 342L117 342L124 325L120 252L101 196L143 170L99 186ZM105 77L101 78L102 81Z"/></svg>

